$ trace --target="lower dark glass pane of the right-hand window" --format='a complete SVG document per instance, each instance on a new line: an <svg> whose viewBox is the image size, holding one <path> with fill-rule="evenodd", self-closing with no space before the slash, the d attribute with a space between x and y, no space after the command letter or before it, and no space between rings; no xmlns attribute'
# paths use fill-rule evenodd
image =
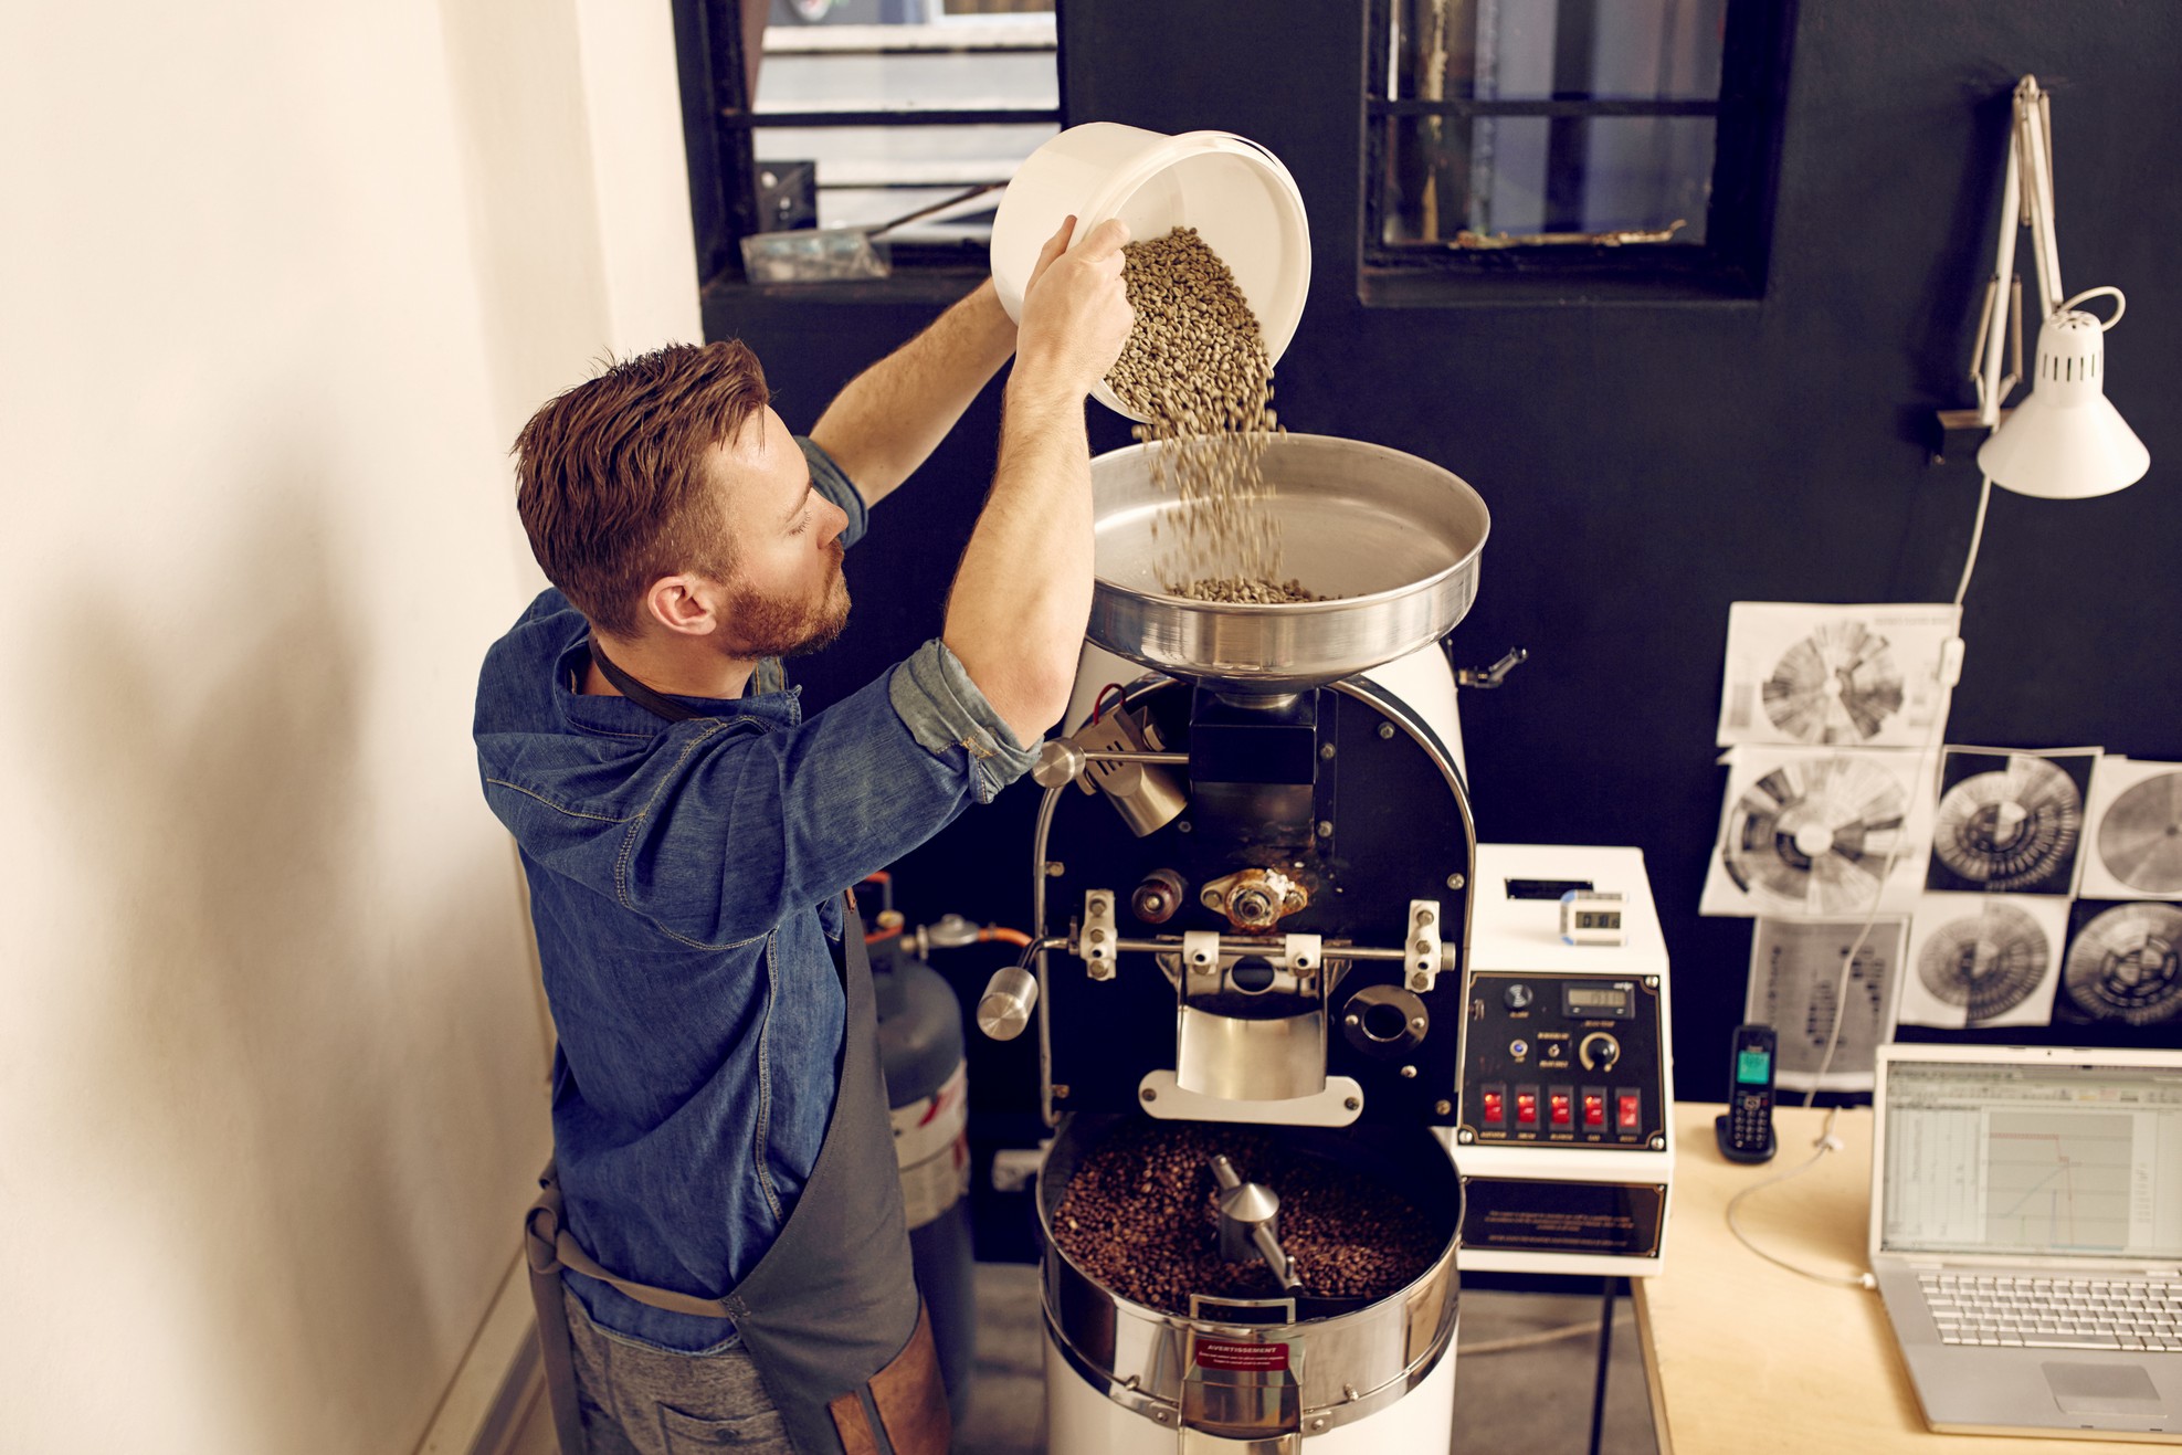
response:
<svg viewBox="0 0 2182 1455"><path fill-rule="evenodd" d="M1704 242L1709 116L1401 116L1386 122L1381 242L1661 231Z"/></svg>

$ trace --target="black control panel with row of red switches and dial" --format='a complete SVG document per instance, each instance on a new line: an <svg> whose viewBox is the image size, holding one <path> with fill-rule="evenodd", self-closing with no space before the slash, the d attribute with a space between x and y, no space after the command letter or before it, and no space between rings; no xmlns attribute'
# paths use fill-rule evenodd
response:
<svg viewBox="0 0 2182 1455"><path fill-rule="evenodd" d="M1661 979L1473 971L1460 1130L1482 1145L1665 1145Z"/></svg>

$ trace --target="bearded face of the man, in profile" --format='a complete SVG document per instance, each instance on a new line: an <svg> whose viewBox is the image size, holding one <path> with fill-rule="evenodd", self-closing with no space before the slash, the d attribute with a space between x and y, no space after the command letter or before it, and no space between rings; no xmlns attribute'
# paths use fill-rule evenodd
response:
<svg viewBox="0 0 2182 1455"><path fill-rule="evenodd" d="M812 484L810 465L770 408L711 454L733 548L720 582L722 652L796 657L834 641L849 622L840 532L849 517Z"/></svg>

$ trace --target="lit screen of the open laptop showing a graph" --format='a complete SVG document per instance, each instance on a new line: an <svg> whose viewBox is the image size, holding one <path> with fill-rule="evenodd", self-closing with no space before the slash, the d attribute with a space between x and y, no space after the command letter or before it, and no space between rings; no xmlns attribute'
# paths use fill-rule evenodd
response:
<svg viewBox="0 0 2182 1455"><path fill-rule="evenodd" d="M2182 1073L1894 1060L1887 1252L2182 1261Z"/></svg>

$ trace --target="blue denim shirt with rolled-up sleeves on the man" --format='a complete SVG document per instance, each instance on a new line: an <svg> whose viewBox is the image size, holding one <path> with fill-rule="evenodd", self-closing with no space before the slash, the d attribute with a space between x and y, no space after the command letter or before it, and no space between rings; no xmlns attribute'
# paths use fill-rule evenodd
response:
<svg viewBox="0 0 2182 1455"><path fill-rule="evenodd" d="M801 443L853 543L862 497ZM834 1113L840 892L1032 755L940 641L810 720L768 663L748 696L676 698L700 716L666 722L574 689L585 633L541 593L487 652L473 729L530 879L567 1228L622 1278L718 1298L794 1211ZM648 1344L733 1337L567 1283L600 1326Z"/></svg>

